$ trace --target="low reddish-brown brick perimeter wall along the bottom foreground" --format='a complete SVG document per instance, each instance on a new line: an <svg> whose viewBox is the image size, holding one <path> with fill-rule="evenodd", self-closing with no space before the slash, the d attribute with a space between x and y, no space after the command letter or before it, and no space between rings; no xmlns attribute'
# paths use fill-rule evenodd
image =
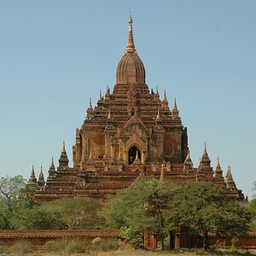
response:
<svg viewBox="0 0 256 256"><path fill-rule="evenodd" d="M203 245L202 237L186 236L180 232L174 232L172 235L170 245L173 248L202 247ZM26 240L30 241L35 249L43 247L46 241L63 239L67 241L80 239L90 247L91 241L96 237L119 239L121 236L119 230L0 230L0 244L12 246L17 241ZM230 247L231 237L209 236L208 245ZM153 234L145 234L144 246L157 247L157 241ZM247 236L240 237L238 247L256 248L256 230L250 231Z"/></svg>

